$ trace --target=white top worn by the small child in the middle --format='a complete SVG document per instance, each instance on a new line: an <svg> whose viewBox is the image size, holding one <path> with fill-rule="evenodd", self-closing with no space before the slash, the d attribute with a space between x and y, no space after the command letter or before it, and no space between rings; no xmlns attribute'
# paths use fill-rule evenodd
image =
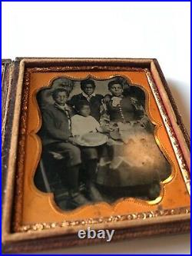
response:
<svg viewBox="0 0 192 256"><path fill-rule="evenodd" d="M71 133L73 136L84 135L91 131L101 131L101 126L98 121L91 115L88 115L87 117L74 115L71 118Z"/></svg>

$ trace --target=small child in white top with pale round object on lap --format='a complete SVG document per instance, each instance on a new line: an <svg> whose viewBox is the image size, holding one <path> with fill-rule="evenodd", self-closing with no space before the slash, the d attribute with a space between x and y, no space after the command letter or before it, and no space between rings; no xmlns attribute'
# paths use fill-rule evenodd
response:
<svg viewBox="0 0 192 256"><path fill-rule="evenodd" d="M100 192L94 185L94 181L98 168L98 145L103 145L107 141L104 141L104 139L108 137L100 133L102 131L101 126L90 115L91 108L88 101L79 101L76 109L78 115L74 115L71 118L71 133L74 136L74 143L77 143L81 147L88 176L86 181L88 195L92 201L103 201Z"/></svg>

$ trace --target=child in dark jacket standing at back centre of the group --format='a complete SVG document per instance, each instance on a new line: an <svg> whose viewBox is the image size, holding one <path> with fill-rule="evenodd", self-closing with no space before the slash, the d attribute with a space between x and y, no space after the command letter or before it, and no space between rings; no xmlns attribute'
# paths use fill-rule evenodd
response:
<svg viewBox="0 0 192 256"><path fill-rule="evenodd" d="M101 105L103 95L95 94L95 83L92 79L81 81L82 92L78 95L74 95L69 101L68 105L77 108L80 101L87 101L90 103L91 115L97 120L100 120L101 116Z"/></svg>

